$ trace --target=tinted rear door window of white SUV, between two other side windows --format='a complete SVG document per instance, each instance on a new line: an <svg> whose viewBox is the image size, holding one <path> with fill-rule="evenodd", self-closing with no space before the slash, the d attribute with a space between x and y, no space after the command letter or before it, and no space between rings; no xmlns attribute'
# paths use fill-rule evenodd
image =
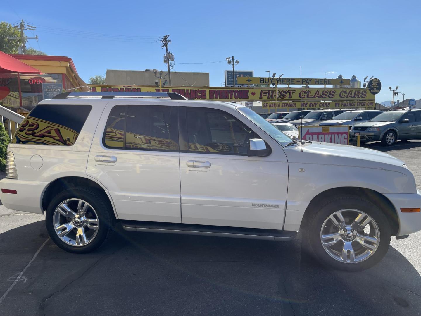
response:
<svg viewBox="0 0 421 316"><path fill-rule="evenodd" d="M118 105L105 128L104 145L131 150L178 150L177 107Z"/></svg>

